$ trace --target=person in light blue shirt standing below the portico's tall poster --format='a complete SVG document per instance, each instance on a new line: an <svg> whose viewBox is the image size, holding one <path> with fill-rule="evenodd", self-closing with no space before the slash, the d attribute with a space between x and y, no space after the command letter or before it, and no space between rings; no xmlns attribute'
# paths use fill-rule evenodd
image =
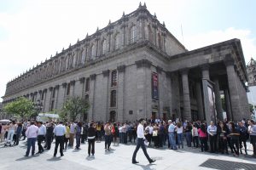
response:
<svg viewBox="0 0 256 170"><path fill-rule="evenodd" d="M211 152L215 153L217 152L217 127L214 122L211 121L211 124L207 127L207 133L209 134Z"/></svg>

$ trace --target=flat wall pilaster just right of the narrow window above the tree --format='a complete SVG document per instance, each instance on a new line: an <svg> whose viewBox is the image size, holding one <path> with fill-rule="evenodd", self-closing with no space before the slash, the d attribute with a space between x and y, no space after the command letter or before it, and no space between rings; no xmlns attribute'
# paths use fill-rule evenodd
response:
<svg viewBox="0 0 256 170"><path fill-rule="evenodd" d="M90 109L88 112L88 121L94 120L94 101L95 101L95 88L96 88L96 74L90 75L90 94L89 94L89 101L90 101Z"/></svg>

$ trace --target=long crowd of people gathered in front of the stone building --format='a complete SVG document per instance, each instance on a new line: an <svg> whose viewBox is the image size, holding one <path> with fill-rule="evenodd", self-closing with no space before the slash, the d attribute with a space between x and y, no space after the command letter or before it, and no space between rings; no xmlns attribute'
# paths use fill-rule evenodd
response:
<svg viewBox="0 0 256 170"><path fill-rule="evenodd" d="M0 124L1 142L18 145L20 140L27 138L26 155L35 154L35 144L38 142L38 152L50 150L55 139L55 152L60 147L63 150L74 148L80 150L80 144L88 143L88 156L95 155L95 143L105 142L104 150L111 150L111 144L142 143L141 139L148 142L148 147L168 147L170 150L188 147L199 148L201 151L211 153L230 154L239 156L247 155L247 141L253 144L253 156L256 157L256 124L253 120L241 122L219 121L211 122L181 122L177 120L160 121L149 120L143 123L143 135L138 138L137 127L139 122L15 122L7 125ZM23 139L22 139L23 138ZM185 141L185 142L184 142ZM44 143L44 146L42 145ZM242 152L242 148L244 153ZM134 162L137 162L133 160ZM150 162L150 161L149 161Z"/></svg>

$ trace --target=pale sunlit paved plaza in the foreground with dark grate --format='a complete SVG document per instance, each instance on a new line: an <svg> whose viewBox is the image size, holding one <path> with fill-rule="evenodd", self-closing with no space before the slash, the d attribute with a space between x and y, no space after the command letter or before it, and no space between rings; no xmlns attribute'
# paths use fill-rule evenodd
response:
<svg viewBox="0 0 256 170"><path fill-rule="evenodd" d="M85 169L85 170L134 170L134 169L256 169L256 159L251 156L234 157L232 155L201 153L200 149L187 148L180 150L168 150L148 148L148 155L156 161L149 164L143 155L143 150L137 153L138 164L131 163L131 156L135 150L135 144L119 144L112 150L105 152L104 142L96 143L95 157L88 157L87 143L81 145L81 150L67 149L65 156L53 157L55 144L51 150L44 151L43 154L25 157L26 146L20 142L19 146L3 147L0 144L0 169ZM248 154L252 154L252 146L249 144ZM36 145L36 152L38 146ZM212 167L212 168L208 168Z"/></svg>

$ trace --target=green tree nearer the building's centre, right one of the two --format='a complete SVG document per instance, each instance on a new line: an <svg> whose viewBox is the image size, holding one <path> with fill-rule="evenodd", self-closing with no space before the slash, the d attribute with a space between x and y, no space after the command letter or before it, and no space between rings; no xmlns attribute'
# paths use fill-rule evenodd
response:
<svg viewBox="0 0 256 170"><path fill-rule="evenodd" d="M79 96L74 96L65 101L59 113L59 116L64 121L67 121L68 118L71 121L75 121L78 118L79 114L86 116L89 108L90 105L88 100L83 99Z"/></svg>

